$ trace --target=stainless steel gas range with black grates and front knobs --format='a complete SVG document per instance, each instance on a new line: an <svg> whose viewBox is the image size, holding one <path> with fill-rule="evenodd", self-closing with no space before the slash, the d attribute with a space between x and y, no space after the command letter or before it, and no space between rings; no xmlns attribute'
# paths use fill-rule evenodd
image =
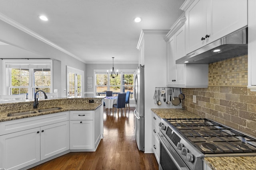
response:
<svg viewBox="0 0 256 170"><path fill-rule="evenodd" d="M206 156L256 156L256 139L206 118L161 119L160 170L203 170Z"/></svg>

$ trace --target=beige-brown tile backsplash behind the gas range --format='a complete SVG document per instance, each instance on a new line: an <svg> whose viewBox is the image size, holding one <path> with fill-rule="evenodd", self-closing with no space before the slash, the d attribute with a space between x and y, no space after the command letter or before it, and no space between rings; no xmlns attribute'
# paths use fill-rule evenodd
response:
<svg viewBox="0 0 256 170"><path fill-rule="evenodd" d="M182 105L256 137L256 92L246 88L247 66L247 55L209 64L208 88L183 88Z"/></svg>

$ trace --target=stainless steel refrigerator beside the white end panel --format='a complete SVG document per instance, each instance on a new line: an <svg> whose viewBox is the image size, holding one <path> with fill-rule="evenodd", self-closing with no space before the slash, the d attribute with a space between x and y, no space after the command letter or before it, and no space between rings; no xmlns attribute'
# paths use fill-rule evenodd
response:
<svg viewBox="0 0 256 170"><path fill-rule="evenodd" d="M144 66L140 65L134 79L135 139L139 150L144 151Z"/></svg>

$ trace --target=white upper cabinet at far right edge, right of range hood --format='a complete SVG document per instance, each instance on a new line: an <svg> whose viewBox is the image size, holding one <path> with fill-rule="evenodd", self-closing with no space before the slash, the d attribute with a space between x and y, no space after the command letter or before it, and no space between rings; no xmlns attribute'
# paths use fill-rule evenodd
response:
<svg viewBox="0 0 256 170"><path fill-rule="evenodd" d="M256 1L248 0L248 88L256 92Z"/></svg>

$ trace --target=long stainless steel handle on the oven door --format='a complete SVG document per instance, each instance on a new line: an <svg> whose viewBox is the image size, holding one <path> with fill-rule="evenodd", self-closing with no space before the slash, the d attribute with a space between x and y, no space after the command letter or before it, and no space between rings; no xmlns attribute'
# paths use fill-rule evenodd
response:
<svg viewBox="0 0 256 170"><path fill-rule="evenodd" d="M169 148L165 145L165 143L169 143L165 137L161 133L157 133L157 136L159 138L159 141L162 143L162 146L166 150L167 154L170 156L174 164L176 165L179 170L189 170L189 168L186 166L186 164L183 162L183 160L180 158L180 156L177 154L177 152L170 146ZM171 151L171 152L170 152ZM174 158L176 156L176 158ZM180 159L180 161L177 161L177 158ZM160 155L161 159L161 155Z"/></svg>

